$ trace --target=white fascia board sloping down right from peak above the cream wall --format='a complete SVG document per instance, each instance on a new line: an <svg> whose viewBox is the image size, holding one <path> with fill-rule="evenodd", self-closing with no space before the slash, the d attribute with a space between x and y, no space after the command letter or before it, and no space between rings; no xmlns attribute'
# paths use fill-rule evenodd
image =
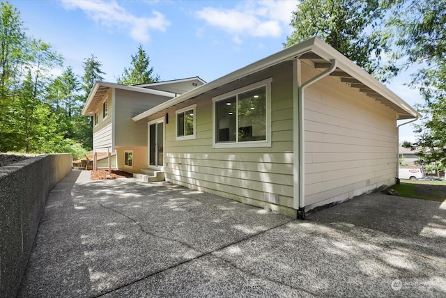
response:
<svg viewBox="0 0 446 298"><path fill-rule="evenodd" d="M341 54L336 49L326 44L322 40L318 38L315 40L314 49L312 52L314 52L314 54L318 56L321 56L321 58L324 58L327 61L336 59L338 65L337 68L348 73L348 75L351 75L358 81L361 81L362 84L365 84L372 90L380 93L380 95L383 95L383 97L387 98L387 100L393 102L404 111L407 111L408 113L413 115L414 118L422 117L420 113L415 111L413 107L410 107L410 104L401 99L401 97L399 97L389 88L384 86L384 84L380 83L380 81L369 75L368 72L357 66L355 63L350 61L346 56L344 56L343 54Z"/></svg>

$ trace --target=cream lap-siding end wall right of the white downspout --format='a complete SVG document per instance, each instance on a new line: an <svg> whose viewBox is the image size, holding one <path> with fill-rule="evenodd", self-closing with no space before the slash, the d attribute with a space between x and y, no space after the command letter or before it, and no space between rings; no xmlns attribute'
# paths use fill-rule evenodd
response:
<svg viewBox="0 0 446 298"><path fill-rule="evenodd" d="M303 81L316 70L302 63ZM397 173L397 114L325 77L305 91L305 205L344 201Z"/></svg>

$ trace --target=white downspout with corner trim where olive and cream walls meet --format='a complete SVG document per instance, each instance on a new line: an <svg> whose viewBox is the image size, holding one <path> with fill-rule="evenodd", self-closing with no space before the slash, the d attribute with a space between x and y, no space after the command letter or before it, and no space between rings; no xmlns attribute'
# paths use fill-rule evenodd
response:
<svg viewBox="0 0 446 298"><path fill-rule="evenodd" d="M305 104L304 104L304 91L308 86L316 83L316 81L322 79L330 75L330 73L334 72L337 68L337 61L333 59L330 61L332 65L327 70L324 70L320 74L316 75L312 79L309 79L303 84L300 84L300 61L297 59L297 72L298 72L298 115L294 115L294 122L298 121L298 138L294 138L293 147L294 147L294 173L298 172L298 180L294 179L294 196L298 195L299 203L298 206L298 219L305 219ZM298 116L298 120L296 120L296 116ZM296 123L297 124L297 123ZM296 125L294 125L295 127ZM296 148L298 148L298 152L296 154ZM296 156L297 155L297 156ZM296 158L297 157L297 158ZM298 170L298 171L297 171ZM296 185L296 182L298 183Z"/></svg>

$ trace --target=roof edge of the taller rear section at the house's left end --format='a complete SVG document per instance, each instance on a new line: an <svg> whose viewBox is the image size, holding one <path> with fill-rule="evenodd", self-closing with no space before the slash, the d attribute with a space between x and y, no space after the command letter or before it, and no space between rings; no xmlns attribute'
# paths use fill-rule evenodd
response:
<svg viewBox="0 0 446 298"><path fill-rule="evenodd" d="M97 81L90 91L89 97L87 98L84 109L82 109L82 115L93 116L97 110L98 104L102 102L102 98L109 91L110 88L116 88L127 91L136 91L139 93L148 93L153 95L161 95L165 97L175 97L175 93L158 91L148 88L142 88L139 86L128 86L123 84L109 83L107 81Z"/></svg>

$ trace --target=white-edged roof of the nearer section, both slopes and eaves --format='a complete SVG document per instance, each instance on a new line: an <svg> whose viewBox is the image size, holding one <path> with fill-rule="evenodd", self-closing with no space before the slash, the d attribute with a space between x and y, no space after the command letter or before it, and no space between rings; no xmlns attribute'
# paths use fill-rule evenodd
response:
<svg viewBox="0 0 446 298"><path fill-rule="evenodd" d="M207 84L194 88L187 93L179 95L157 107L153 107L144 113L134 116L132 120L138 121L144 119L158 111L162 111L175 104L189 100L192 97L196 97L225 84L237 81L238 79L265 70L266 68L270 68L284 61L291 61L295 58L310 60L314 63L315 68L328 68L330 66L328 65L328 62L336 59L337 70L332 72L330 76L339 77L345 84L348 84L352 88L357 88L358 91L365 93L372 99L390 107L390 109L397 112L398 120L421 117L420 113L410 107L408 103L393 93L389 88L381 84L374 77L371 77L371 75L362 70L362 68L357 66L336 49L323 42L323 40L314 37L249 64L244 68L229 73L228 75L224 75L219 79L215 79L214 81L210 81Z"/></svg>

